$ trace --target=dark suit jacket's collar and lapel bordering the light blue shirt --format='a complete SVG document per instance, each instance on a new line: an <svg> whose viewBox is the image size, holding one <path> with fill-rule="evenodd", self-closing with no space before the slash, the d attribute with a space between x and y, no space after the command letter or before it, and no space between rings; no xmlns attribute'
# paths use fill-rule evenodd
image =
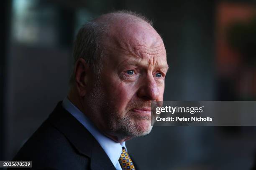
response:
<svg viewBox="0 0 256 170"><path fill-rule="evenodd" d="M104 152L92 134L67 110L58 103L48 120L63 133L79 153L91 159L92 170L115 170L108 155Z"/></svg>

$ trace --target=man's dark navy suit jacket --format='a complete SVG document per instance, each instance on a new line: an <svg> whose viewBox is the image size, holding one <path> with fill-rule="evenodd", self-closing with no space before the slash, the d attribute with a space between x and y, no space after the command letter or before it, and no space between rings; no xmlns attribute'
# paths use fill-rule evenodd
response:
<svg viewBox="0 0 256 170"><path fill-rule="evenodd" d="M13 161L32 161L33 169L115 170L97 140L62 107L62 102Z"/></svg>

